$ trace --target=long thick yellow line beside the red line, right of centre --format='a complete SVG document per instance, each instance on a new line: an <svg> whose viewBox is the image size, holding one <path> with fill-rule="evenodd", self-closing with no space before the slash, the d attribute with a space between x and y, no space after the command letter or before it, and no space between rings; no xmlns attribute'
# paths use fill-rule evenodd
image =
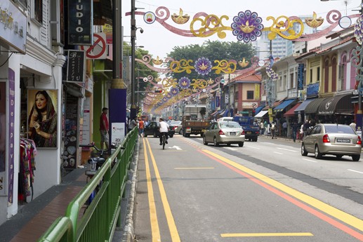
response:
<svg viewBox="0 0 363 242"><path fill-rule="evenodd" d="M217 159L220 159L221 161L229 164L230 166L237 168L238 170L242 170L244 173L247 173L253 177L256 177L258 180L261 180L261 181L265 182L266 184L270 184L270 186L272 186L272 187L275 187L281 191L284 191L284 193L289 194L290 196L293 196L296 199L299 199L305 203L308 203L310 206L317 208L318 210L321 210L322 212L327 213L327 214L335 217L336 219L341 220L341 221L345 222L346 224L349 224L350 226L355 227L356 229L359 229L360 231L363 231L363 220L359 220L359 218L357 218L357 217L354 217L348 213L345 213L342 210L339 210L338 208L334 208L333 206L330 206L311 196L303 194L302 192L297 191L296 189L288 187L285 184L282 184L281 182L277 182L276 180L273 180L270 177L257 173L254 170L246 168L245 166L242 166L239 163L231 161L230 159L226 159L225 157L220 156L216 153L213 153L207 149L202 149L202 151L205 152L206 154L210 154L211 156L216 157Z"/></svg>

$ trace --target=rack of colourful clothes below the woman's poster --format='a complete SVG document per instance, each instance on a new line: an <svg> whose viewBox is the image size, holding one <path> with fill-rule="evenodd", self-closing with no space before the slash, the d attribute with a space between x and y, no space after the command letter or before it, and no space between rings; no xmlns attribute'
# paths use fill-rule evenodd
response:
<svg viewBox="0 0 363 242"><path fill-rule="evenodd" d="M33 182L35 170L35 156L37 147L33 140L20 138L20 166L19 166L19 187L18 200L26 202L27 196L32 195L33 200Z"/></svg>

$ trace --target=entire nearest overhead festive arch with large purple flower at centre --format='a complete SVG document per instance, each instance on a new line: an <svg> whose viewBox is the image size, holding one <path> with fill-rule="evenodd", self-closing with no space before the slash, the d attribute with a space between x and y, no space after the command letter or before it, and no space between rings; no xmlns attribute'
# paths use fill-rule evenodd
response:
<svg viewBox="0 0 363 242"><path fill-rule="evenodd" d="M149 11L147 13L150 15L150 13L153 12ZM126 13L126 15L130 14L131 13ZM135 14L145 15L146 13L137 11ZM233 35L237 36L237 40L244 41L246 43L255 41L262 32L269 32L268 38L270 40L275 39L277 36L293 41L309 41L312 39L318 39L319 37L331 32L331 30L339 25L340 20L342 19L342 14L337 10L329 11L325 18L323 18L324 16L318 16L313 11L312 16L305 20L309 27L317 28L323 23L326 24L326 22L330 26L328 25L328 27L322 29L322 31L314 32L313 34L303 34L303 21L296 16L268 16L265 24L263 19L258 17L258 13L250 10L239 11L237 15L232 18L232 23L228 23L230 18L227 15L218 16L199 12L196 13L193 18L190 18L189 15L183 13L181 8L179 13L171 14L169 9L164 6L158 7L153 14L154 15L152 16L155 18L154 22L159 22L160 25L168 29L170 32L180 36L206 38L217 34L218 38L224 39L227 36L227 32L232 32ZM170 18L172 22L178 25L184 26L189 23L189 27L187 29L174 27L168 23ZM343 18L359 18L359 14L343 16ZM146 18L146 20L147 19L148 18ZM298 28L294 28L294 25L298 25ZM299 32L296 32L295 29L299 29Z"/></svg>

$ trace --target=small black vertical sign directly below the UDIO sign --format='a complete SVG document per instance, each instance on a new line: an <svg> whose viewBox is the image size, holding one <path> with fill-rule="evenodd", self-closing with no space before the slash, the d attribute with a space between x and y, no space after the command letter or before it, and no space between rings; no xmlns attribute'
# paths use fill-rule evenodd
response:
<svg viewBox="0 0 363 242"><path fill-rule="evenodd" d="M86 72L86 55L84 51L68 51L67 80L76 83L84 82Z"/></svg>

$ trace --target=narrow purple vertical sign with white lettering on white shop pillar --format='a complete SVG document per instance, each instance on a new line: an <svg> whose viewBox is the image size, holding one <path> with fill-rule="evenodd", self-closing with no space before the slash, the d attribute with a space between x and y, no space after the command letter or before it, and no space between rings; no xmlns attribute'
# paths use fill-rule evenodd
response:
<svg viewBox="0 0 363 242"><path fill-rule="evenodd" d="M14 121L15 121L15 72L9 68L8 83L8 205L13 203L14 184Z"/></svg>

